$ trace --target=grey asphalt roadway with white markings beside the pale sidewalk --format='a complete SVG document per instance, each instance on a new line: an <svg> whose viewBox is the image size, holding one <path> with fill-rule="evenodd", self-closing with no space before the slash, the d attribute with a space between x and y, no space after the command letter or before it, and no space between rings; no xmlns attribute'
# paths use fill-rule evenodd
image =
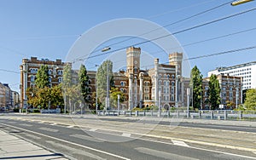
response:
<svg viewBox="0 0 256 160"><path fill-rule="evenodd" d="M179 140L163 142L147 137L134 139L131 134L102 133L93 128L84 132L84 129L68 124L60 125L57 122L20 121L0 117L0 129L61 152L71 159L256 159L255 153L249 154L246 151L240 151L242 154L238 155L234 151L213 151L190 146ZM106 137L108 140L121 142L104 141Z"/></svg>

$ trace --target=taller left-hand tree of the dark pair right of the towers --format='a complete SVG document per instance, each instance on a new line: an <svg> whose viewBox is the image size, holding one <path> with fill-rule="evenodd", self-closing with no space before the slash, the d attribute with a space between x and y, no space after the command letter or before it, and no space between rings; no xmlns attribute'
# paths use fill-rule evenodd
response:
<svg viewBox="0 0 256 160"><path fill-rule="evenodd" d="M194 66L190 74L190 85L193 86L193 107L201 107L201 97L202 97L202 75L201 71Z"/></svg>

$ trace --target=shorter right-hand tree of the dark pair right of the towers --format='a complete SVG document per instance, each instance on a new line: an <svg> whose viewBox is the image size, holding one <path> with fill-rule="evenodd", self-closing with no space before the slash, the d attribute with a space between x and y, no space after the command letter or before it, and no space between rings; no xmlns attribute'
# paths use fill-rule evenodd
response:
<svg viewBox="0 0 256 160"><path fill-rule="evenodd" d="M209 102L212 110L216 110L220 104L220 87L217 76L213 74L209 82Z"/></svg>

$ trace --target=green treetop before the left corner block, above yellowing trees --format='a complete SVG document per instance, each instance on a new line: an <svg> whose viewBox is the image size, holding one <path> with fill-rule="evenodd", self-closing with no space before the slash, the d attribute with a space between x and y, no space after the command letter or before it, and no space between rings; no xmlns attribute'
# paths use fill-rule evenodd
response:
<svg viewBox="0 0 256 160"><path fill-rule="evenodd" d="M38 89L44 89L44 87L49 86L49 75L48 75L48 66L40 66L37 75L36 75L36 86Z"/></svg>

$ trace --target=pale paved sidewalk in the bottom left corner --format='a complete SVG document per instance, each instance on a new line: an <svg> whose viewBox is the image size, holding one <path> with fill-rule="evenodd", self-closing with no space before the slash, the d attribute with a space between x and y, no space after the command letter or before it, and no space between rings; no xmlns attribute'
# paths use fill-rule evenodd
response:
<svg viewBox="0 0 256 160"><path fill-rule="evenodd" d="M0 159L67 159L61 153L48 151L1 129L0 137Z"/></svg>

